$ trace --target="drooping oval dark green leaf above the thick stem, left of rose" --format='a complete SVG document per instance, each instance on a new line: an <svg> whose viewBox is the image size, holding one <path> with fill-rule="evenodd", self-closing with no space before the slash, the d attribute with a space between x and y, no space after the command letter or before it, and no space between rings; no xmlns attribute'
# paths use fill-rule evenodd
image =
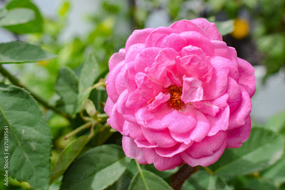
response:
<svg viewBox="0 0 285 190"><path fill-rule="evenodd" d="M78 78L71 68L60 68L54 86L55 91L62 97L57 104L60 111L70 116L73 114L74 102L77 100L79 86Z"/></svg>

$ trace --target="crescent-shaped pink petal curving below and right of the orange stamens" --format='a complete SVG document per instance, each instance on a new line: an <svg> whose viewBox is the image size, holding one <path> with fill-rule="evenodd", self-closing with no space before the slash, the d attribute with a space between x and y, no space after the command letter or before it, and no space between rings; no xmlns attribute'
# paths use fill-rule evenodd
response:
<svg viewBox="0 0 285 190"><path fill-rule="evenodd" d="M210 130L210 123L201 112L197 113L197 125L195 128L191 129L185 133L175 133L170 131L171 136L177 141L184 144L192 144L195 142L200 142L205 138Z"/></svg>

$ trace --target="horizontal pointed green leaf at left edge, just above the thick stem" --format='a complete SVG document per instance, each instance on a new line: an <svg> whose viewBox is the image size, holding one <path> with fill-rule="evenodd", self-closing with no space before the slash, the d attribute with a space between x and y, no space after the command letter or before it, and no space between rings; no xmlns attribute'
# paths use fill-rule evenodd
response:
<svg viewBox="0 0 285 190"><path fill-rule="evenodd" d="M52 58L54 54L39 45L20 41L0 44L0 63L38 62Z"/></svg>

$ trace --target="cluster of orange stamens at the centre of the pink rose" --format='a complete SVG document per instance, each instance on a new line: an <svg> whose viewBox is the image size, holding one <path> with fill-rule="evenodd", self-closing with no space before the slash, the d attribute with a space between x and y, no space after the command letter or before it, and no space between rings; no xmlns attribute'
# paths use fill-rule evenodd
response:
<svg viewBox="0 0 285 190"><path fill-rule="evenodd" d="M184 102L181 101L182 87L171 85L165 89L170 93L170 99L167 101L169 107L180 110L181 106L184 105Z"/></svg>

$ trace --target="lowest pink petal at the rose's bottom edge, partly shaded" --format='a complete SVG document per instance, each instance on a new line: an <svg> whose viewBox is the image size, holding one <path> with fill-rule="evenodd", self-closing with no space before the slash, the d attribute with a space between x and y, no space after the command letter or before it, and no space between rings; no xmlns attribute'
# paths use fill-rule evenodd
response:
<svg viewBox="0 0 285 190"><path fill-rule="evenodd" d="M156 154L154 148L143 148L145 158L148 164L154 164L154 167L159 171L164 171L166 169L172 169L174 167L181 166L183 160L179 154L174 155L173 157L163 157Z"/></svg>

